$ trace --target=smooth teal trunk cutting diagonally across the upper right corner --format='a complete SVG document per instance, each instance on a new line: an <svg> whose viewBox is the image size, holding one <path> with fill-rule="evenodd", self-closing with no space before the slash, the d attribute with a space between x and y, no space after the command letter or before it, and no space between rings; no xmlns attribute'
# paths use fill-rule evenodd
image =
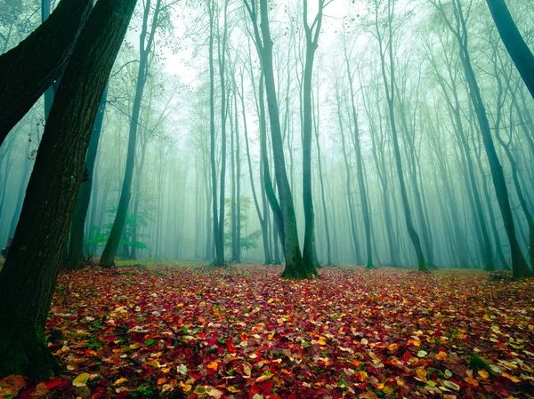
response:
<svg viewBox="0 0 534 399"><path fill-rule="evenodd" d="M491 16L495 21L498 34L501 36L506 50L534 99L534 55L515 25L514 19L506 6L506 1L486 0L486 3L490 7Z"/></svg>

